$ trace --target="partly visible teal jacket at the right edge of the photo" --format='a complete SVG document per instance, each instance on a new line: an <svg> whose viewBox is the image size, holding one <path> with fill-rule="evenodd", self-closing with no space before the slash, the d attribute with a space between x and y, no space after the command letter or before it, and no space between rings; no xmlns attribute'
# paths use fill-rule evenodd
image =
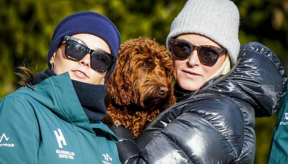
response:
<svg viewBox="0 0 288 164"><path fill-rule="evenodd" d="M288 163L288 93L284 96L277 113L269 153L269 164Z"/></svg>

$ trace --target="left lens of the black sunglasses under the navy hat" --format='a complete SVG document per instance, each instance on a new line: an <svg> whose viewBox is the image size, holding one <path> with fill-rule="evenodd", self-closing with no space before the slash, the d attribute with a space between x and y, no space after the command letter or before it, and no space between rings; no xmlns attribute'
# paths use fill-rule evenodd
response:
<svg viewBox="0 0 288 164"><path fill-rule="evenodd" d="M66 47L66 55L73 60L80 60L86 53L86 48L76 41L69 40Z"/></svg>

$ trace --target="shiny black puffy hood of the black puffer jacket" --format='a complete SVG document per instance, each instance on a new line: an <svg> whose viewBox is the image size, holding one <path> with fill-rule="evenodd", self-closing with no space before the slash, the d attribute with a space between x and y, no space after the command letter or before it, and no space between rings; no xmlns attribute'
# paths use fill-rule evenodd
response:
<svg viewBox="0 0 288 164"><path fill-rule="evenodd" d="M241 46L237 63L200 93L219 93L246 101L256 117L271 116L286 93L287 75L276 55L258 42Z"/></svg>

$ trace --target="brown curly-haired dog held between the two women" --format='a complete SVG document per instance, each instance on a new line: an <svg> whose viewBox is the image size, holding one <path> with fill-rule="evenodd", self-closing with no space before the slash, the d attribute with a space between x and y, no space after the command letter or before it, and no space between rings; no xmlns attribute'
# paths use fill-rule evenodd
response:
<svg viewBox="0 0 288 164"><path fill-rule="evenodd" d="M106 95L107 112L116 126L129 128L134 138L164 109L176 103L173 61L166 47L147 38L120 46Z"/></svg>

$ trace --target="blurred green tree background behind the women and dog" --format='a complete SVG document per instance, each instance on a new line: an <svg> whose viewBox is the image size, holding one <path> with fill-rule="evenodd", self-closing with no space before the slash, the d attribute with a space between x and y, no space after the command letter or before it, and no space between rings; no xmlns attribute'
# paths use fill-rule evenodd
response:
<svg viewBox="0 0 288 164"><path fill-rule="evenodd" d="M239 40L260 42L274 51L285 68L288 38L288 0L233 0L240 12ZM1 0L0 98L19 86L15 67L26 64L35 73L47 68L54 28L65 16L84 10L99 12L117 26L122 42L148 37L165 45L173 19L186 0ZM223 24L225 26L225 24ZM37 66L37 68L36 68ZM273 79L271 79L273 80ZM256 118L254 163L267 163L276 114Z"/></svg>

